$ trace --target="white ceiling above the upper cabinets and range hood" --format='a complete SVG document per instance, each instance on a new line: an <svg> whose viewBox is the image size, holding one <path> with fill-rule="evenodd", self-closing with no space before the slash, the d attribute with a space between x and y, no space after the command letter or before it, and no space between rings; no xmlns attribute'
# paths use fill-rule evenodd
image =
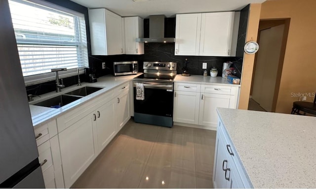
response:
<svg viewBox="0 0 316 189"><path fill-rule="evenodd" d="M236 11L249 3L262 3L265 0L71 0L87 8L106 8L122 17L165 15L196 12Z"/></svg>

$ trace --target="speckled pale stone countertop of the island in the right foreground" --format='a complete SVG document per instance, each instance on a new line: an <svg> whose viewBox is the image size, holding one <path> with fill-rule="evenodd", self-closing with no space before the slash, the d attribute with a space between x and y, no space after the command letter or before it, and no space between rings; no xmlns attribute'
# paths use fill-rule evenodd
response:
<svg viewBox="0 0 316 189"><path fill-rule="evenodd" d="M217 108L254 188L316 187L316 117Z"/></svg>

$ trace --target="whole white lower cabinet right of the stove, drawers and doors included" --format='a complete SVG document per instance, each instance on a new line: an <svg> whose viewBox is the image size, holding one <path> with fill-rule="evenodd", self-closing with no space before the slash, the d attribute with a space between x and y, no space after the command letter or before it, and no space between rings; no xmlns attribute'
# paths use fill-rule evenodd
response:
<svg viewBox="0 0 316 189"><path fill-rule="evenodd" d="M175 83L173 121L215 129L216 108L237 108L238 87Z"/></svg>

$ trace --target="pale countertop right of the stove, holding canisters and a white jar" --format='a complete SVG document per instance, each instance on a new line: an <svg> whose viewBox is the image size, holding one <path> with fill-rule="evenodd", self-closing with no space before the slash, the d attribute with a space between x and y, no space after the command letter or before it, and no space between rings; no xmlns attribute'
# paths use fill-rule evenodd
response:
<svg viewBox="0 0 316 189"><path fill-rule="evenodd" d="M182 76L181 74L177 74L173 81L181 82L181 83L196 83L196 84L208 84L208 85L212 84L212 85L226 85L226 86L240 87L240 85L229 83L227 79L223 77L211 77L211 76L202 76L202 75Z"/></svg>

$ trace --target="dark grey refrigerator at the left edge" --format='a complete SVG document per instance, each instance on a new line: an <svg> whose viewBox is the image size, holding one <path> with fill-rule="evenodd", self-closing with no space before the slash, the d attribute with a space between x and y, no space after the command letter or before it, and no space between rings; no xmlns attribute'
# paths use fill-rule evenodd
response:
<svg viewBox="0 0 316 189"><path fill-rule="evenodd" d="M45 188L8 0L0 0L0 188Z"/></svg>

